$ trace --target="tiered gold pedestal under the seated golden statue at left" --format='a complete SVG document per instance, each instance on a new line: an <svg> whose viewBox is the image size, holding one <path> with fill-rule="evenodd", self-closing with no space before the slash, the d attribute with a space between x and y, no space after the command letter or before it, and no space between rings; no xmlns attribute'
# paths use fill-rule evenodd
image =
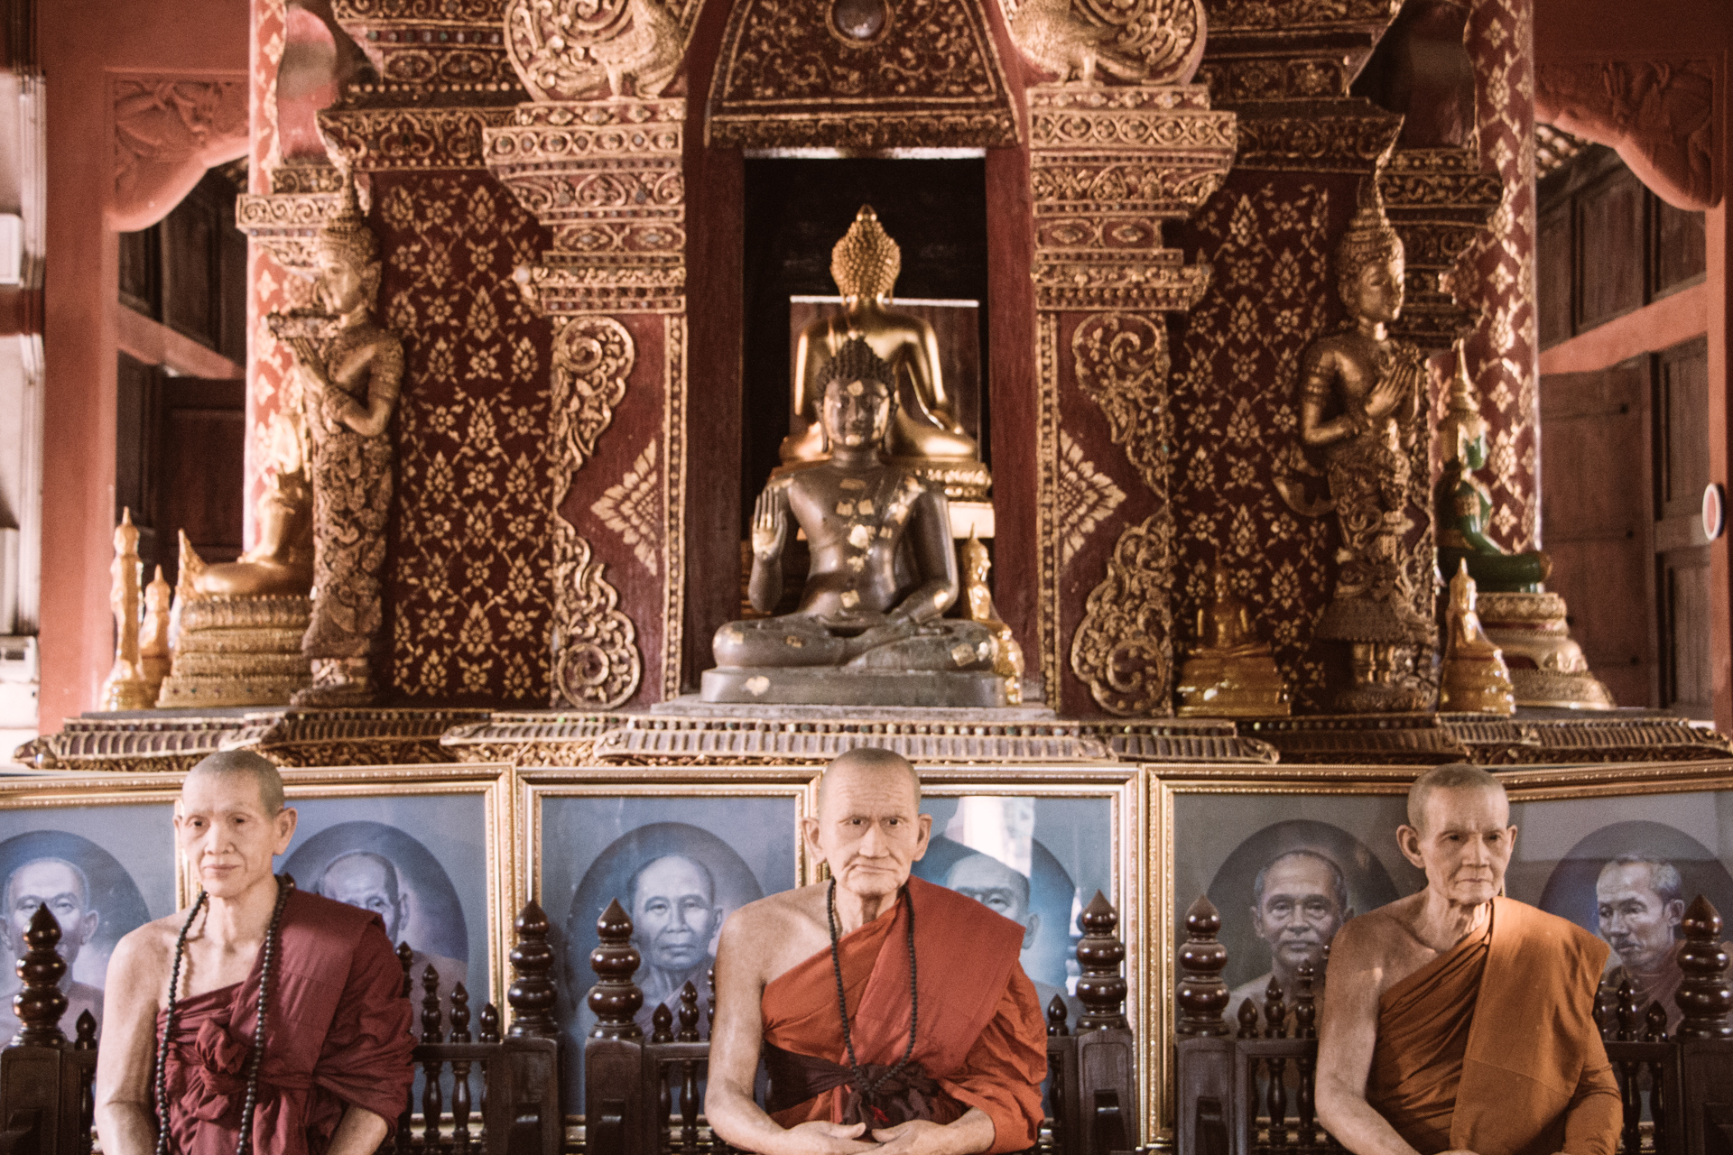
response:
<svg viewBox="0 0 1733 1155"><path fill-rule="evenodd" d="M182 601L173 668L158 707L277 707L312 686L305 597Z"/></svg>

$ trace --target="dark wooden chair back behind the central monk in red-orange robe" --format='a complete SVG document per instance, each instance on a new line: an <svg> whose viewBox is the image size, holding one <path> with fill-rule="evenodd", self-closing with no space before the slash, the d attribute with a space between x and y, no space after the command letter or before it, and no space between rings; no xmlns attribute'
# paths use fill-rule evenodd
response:
<svg viewBox="0 0 1733 1155"><path fill-rule="evenodd" d="M1052 1119L1042 1146L1055 1155L1133 1152L1140 1143L1137 1048L1125 1018L1125 944L1114 935L1120 914L1097 894L1081 923L1076 954L1083 1013L1076 1023L1068 1022L1069 1011L1057 996L1047 1008ZM709 1030L700 1034L698 1025L716 1015L714 975L704 1015L698 990L688 982L678 1008L655 1010L645 1039L634 1018L643 1008L643 990L633 982L639 963L631 945L633 921L619 902L610 902L596 932L601 945L589 963L596 973L589 992L596 1027L584 1044L587 1155L728 1152L705 1126L698 1101L711 1060Z"/></svg>

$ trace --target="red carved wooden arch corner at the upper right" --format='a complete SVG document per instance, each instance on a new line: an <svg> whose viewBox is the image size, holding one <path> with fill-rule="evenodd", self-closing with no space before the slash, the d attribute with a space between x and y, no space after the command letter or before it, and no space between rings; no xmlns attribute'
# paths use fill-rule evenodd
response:
<svg viewBox="0 0 1733 1155"><path fill-rule="evenodd" d="M1572 61L1535 69L1534 116L1615 149L1676 208L1721 203L1714 156L1716 62Z"/></svg>

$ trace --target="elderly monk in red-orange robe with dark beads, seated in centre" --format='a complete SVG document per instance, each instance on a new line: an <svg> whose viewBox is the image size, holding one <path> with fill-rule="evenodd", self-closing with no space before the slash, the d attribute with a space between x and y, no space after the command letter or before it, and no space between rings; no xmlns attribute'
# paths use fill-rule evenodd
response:
<svg viewBox="0 0 1733 1155"><path fill-rule="evenodd" d="M1017 963L1026 932L910 878L932 836L915 769L887 750L842 755L801 835L830 880L723 925L704 1105L716 1134L759 1155L1033 1146L1047 1029ZM752 1100L761 1053L766 1108Z"/></svg>

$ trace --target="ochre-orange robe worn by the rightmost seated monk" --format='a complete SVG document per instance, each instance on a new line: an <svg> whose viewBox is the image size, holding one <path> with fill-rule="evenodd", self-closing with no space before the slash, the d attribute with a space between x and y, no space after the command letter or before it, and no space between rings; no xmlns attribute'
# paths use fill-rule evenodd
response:
<svg viewBox="0 0 1733 1155"><path fill-rule="evenodd" d="M1619 1084L1594 1023L1606 944L1494 899L1483 930L1378 1001L1366 1101L1421 1155L1613 1155Z"/></svg>

